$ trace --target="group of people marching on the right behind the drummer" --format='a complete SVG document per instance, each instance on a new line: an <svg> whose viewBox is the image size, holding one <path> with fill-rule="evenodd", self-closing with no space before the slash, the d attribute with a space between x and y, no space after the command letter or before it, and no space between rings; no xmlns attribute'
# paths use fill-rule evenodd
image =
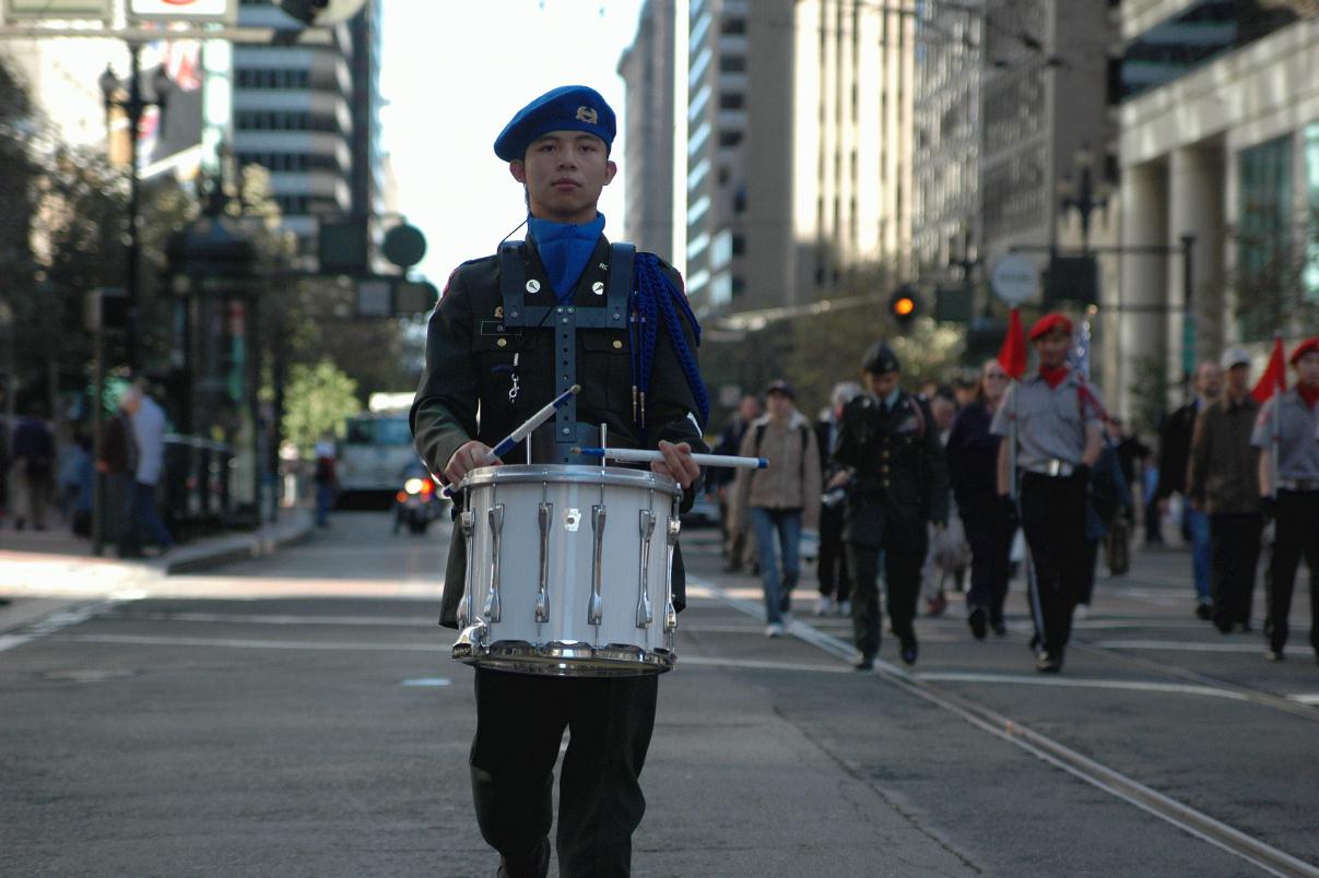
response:
<svg viewBox="0 0 1319 878"><path fill-rule="evenodd" d="M786 380L741 399L718 452L769 467L712 469L708 489L725 570L761 579L766 635L790 629L805 541L818 546L815 613L852 620L859 670L874 666L885 613L898 657L914 664L922 599L938 616L950 592L964 592L975 639L1004 637L1009 584L1024 572L1035 668L1055 674L1072 620L1093 600L1100 559L1109 573L1126 572L1144 518L1149 548L1163 544L1165 523L1182 531L1191 612L1223 634L1256 630L1266 554L1269 660L1285 657L1304 560L1319 659L1319 339L1286 364L1279 343L1258 382L1237 347L1199 364L1194 398L1149 444L1074 361L1067 316L1039 319L1029 347L1029 370L1005 345L976 377L911 393L896 352L876 343L860 381L834 385L814 423Z"/></svg>

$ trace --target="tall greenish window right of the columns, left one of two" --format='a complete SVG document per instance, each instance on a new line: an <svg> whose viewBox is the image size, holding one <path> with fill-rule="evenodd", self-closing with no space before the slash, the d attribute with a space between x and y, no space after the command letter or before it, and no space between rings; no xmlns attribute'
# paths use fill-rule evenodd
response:
<svg viewBox="0 0 1319 878"><path fill-rule="evenodd" d="M1237 327L1262 341L1282 326L1291 286L1291 136L1242 149L1237 171Z"/></svg>

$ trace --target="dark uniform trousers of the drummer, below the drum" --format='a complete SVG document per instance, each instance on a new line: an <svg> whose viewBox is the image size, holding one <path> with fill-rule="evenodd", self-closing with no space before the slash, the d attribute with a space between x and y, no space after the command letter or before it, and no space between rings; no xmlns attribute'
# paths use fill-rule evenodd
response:
<svg viewBox="0 0 1319 878"><path fill-rule="evenodd" d="M628 875L646 809L638 778L654 730L657 675L554 678L476 668L472 799L487 844L525 861L549 836L559 778L559 874Z"/></svg>

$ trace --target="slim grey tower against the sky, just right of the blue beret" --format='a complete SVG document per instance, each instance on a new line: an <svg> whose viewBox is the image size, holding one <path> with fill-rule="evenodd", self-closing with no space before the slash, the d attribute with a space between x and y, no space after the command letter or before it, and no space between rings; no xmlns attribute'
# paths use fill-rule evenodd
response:
<svg viewBox="0 0 1319 878"><path fill-rule="evenodd" d="M624 237L673 261L674 216L674 0L646 0L637 36L619 59L625 98Z"/></svg>

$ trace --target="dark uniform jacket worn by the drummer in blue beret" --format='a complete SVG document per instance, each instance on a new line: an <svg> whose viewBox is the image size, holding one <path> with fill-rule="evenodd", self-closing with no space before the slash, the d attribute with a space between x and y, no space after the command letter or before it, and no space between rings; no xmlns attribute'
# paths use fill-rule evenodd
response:
<svg viewBox="0 0 1319 878"><path fill-rule="evenodd" d="M533 241L528 241L525 256L526 277L539 282L542 291L538 295L545 297L543 302L536 302L529 294L528 303L550 303L553 287ZM663 270L682 290L678 273L669 265L663 265ZM596 294L595 285L604 283L608 272L609 243L601 236L574 290L572 305L601 307L604 297ZM412 407L417 451L431 472L442 473L452 454L470 439L493 447L554 398L551 328L508 327L503 318L499 257L488 256L458 266L430 318L426 368ZM683 332L687 348L695 353L692 327L683 324ZM576 347L576 374L582 385L576 397L579 423L607 424L611 447L640 447L641 434L632 418L632 341L627 327L579 328ZM514 374L518 393L516 399L509 399ZM706 451L696 411L695 397L661 322L645 399L646 447L656 448L666 439L690 443L692 451ZM553 427L553 422L541 430L546 427ZM525 455L524 444L518 444L504 461L521 463ZM683 492L683 512L691 508L696 490L698 485L692 485ZM447 628L458 626L466 570L466 546L455 523L439 620ZM679 610L686 602L685 584L681 548L675 548L673 589Z"/></svg>

